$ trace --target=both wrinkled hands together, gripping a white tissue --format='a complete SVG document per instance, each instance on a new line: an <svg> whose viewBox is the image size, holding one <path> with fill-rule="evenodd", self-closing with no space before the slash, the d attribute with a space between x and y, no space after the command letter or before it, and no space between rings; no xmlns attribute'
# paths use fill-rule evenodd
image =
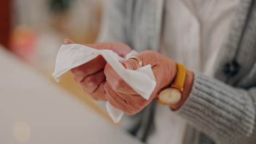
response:
<svg viewBox="0 0 256 144"><path fill-rule="evenodd" d="M65 44L73 44L66 39ZM94 49L113 50L119 56L125 57L131 52L131 48L122 43L100 43L86 45ZM143 65L152 65L156 79L156 87L149 100L141 97L121 77L115 73L112 67L102 56L92 59L90 62L71 69L75 81L89 93L95 100L108 100L111 105L124 111L128 115L134 115L147 106L153 98L156 98L160 89L170 85L176 75L176 63L171 59L160 55L155 51L144 51L137 55ZM123 62L126 69L137 69L139 63L136 59Z"/></svg>

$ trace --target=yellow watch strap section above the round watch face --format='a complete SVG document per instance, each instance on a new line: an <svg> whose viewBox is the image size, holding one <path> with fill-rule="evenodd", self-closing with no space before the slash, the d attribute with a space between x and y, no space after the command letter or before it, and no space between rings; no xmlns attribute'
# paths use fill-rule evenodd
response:
<svg viewBox="0 0 256 144"><path fill-rule="evenodd" d="M186 79L187 70L182 64L176 63L176 65L177 65L177 74L171 87L177 88L179 91L182 92L185 79Z"/></svg>

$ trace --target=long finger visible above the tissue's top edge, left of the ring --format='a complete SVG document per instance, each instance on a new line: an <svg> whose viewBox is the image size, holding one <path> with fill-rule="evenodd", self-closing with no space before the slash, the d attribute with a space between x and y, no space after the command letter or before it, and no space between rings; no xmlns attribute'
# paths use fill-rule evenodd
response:
<svg viewBox="0 0 256 144"><path fill-rule="evenodd" d="M121 57L125 57L127 53L131 52L131 48L128 45L123 43L116 43L116 42L85 44L85 46L89 46L97 50L113 50L115 53L117 53Z"/></svg>

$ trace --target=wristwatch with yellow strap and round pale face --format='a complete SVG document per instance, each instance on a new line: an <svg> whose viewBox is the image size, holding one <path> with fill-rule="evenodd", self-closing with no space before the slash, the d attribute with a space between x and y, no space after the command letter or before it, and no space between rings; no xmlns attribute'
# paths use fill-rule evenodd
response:
<svg viewBox="0 0 256 144"><path fill-rule="evenodd" d="M177 104L182 98L183 87L187 70L182 64L176 63L177 74L171 87L162 90L158 97L158 103L162 105Z"/></svg>

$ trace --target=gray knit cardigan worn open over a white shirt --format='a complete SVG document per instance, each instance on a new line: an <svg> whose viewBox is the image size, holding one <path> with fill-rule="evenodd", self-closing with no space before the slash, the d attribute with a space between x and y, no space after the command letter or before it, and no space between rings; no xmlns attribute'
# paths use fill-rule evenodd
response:
<svg viewBox="0 0 256 144"><path fill-rule="evenodd" d="M164 0L109 0L98 41L120 41L137 51L158 50ZM241 0L218 53L214 78L194 72L193 88L177 111L195 143L256 143L256 1ZM154 101L126 117L141 140L153 125ZM185 142L184 142L185 143Z"/></svg>

